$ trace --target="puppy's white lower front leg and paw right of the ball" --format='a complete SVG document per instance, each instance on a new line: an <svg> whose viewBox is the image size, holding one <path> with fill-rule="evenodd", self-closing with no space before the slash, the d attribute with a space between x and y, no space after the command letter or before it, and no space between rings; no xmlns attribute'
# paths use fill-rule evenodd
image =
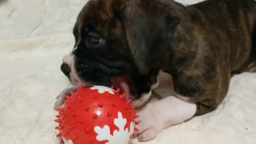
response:
<svg viewBox="0 0 256 144"><path fill-rule="evenodd" d="M138 125L139 141L148 141L156 138L158 134L175 124L180 124L196 114L196 104L189 103L174 96L147 104L138 111L140 116L136 119Z"/></svg>

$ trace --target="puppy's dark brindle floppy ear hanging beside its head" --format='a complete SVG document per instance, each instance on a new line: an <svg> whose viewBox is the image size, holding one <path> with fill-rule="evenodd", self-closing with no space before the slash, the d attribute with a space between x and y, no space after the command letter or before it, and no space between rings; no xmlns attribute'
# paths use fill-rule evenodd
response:
<svg viewBox="0 0 256 144"><path fill-rule="evenodd" d="M179 18L156 0L116 0L114 12L122 21L128 46L141 74L158 72L169 53Z"/></svg>

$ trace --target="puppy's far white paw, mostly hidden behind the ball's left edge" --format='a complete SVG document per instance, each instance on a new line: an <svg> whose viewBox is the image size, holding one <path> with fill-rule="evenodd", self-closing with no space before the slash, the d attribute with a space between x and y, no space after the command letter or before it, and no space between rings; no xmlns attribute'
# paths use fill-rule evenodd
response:
<svg viewBox="0 0 256 144"><path fill-rule="evenodd" d="M64 104L64 100L66 100L65 96L70 96L70 92L76 92L77 88L72 87L72 88L66 88L60 92L60 94L56 97L56 101L54 104L54 110L57 110L57 108L60 108Z"/></svg>

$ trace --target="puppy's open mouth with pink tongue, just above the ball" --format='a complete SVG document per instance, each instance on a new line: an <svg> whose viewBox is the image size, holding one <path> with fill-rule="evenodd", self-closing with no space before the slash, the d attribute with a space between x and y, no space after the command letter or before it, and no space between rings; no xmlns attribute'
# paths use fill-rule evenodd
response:
<svg viewBox="0 0 256 144"><path fill-rule="evenodd" d="M115 78L111 78L111 82L115 89L120 88L121 94L125 94L127 100L138 99L138 94L134 90L134 86L132 85L132 80L128 76L117 76Z"/></svg>

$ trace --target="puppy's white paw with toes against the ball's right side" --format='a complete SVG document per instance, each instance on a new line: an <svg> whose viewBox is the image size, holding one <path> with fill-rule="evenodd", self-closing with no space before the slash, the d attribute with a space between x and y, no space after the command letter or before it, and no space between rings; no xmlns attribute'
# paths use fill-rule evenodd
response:
<svg viewBox="0 0 256 144"><path fill-rule="evenodd" d="M157 110L151 104L148 104L145 108L138 112L139 118L136 118L136 122L139 122L137 134L138 141L153 140L164 129L164 125L161 117L159 117Z"/></svg>

